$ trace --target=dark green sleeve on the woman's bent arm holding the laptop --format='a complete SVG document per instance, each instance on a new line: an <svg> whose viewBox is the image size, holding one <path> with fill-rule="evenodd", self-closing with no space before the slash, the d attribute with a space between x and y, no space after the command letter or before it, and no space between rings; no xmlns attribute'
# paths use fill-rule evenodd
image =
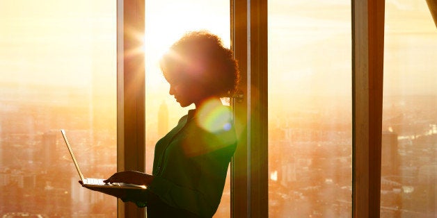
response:
<svg viewBox="0 0 437 218"><path fill-rule="evenodd" d="M201 217L212 217L218 208L223 194L226 174L235 145L205 153L195 158L198 165L196 187L177 185L166 178L155 177L149 186L150 192L169 206L182 208Z"/></svg>

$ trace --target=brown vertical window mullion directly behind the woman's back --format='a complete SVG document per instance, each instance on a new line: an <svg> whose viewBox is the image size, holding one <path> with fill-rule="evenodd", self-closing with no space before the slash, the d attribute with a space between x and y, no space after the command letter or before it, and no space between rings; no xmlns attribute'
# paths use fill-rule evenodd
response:
<svg viewBox="0 0 437 218"><path fill-rule="evenodd" d="M244 98L235 103L232 217L268 216L267 1L232 1L232 49Z"/></svg>

